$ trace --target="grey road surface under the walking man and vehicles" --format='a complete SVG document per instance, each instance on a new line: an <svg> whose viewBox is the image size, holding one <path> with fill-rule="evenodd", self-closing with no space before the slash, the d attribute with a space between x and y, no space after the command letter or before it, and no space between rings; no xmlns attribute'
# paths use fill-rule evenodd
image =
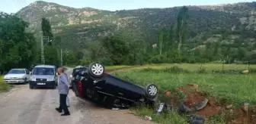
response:
<svg viewBox="0 0 256 124"><path fill-rule="evenodd" d="M71 70L66 70L70 75ZM55 89L30 89L28 85L15 85L0 94L0 124L150 124L129 110L107 110L75 97L69 91L70 116L60 116L59 95Z"/></svg>

